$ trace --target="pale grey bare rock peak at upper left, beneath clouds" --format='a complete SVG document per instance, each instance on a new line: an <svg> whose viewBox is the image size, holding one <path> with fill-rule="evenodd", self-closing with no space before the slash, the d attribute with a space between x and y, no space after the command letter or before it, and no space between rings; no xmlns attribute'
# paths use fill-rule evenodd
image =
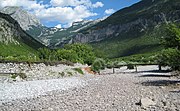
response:
<svg viewBox="0 0 180 111"><path fill-rule="evenodd" d="M27 13L20 7L7 6L1 12L10 15L18 21L23 30L29 30L32 26L40 25L39 20L34 15Z"/></svg>

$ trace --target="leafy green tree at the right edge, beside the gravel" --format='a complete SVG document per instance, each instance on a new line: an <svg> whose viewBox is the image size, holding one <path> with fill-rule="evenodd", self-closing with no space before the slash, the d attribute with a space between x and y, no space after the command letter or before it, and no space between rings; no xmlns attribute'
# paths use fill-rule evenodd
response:
<svg viewBox="0 0 180 111"><path fill-rule="evenodd" d="M170 24L167 26L163 45L167 49L158 55L159 65L180 70L180 28L177 25Z"/></svg>

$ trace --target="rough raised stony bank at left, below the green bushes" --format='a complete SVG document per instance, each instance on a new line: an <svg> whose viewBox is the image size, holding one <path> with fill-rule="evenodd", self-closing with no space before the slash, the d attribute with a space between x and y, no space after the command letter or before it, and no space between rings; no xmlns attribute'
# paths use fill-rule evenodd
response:
<svg viewBox="0 0 180 111"><path fill-rule="evenodd" d="M27 63L0 63L0 83L13 83L22 81L34 81L45 79L58 79L69 76L81 76L74 68L84 68L87 65L74 64L67 66L59 64L56 66L46 66L44 63L27 64ZM12 78L12 74L23 73L27 78ZM84 72L86 73L86 72ZM62 77L63 74L63 77Z"/></svg>

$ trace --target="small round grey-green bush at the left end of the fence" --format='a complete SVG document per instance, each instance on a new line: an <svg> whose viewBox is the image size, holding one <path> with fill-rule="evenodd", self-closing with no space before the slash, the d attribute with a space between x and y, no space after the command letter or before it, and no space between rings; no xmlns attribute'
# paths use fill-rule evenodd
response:
<svg viewBox="0 0 180 111"><path fill-rule="evenodd" d="M95 72L100 72L100 70L105 69L105 61L103 59L96 59L92 66L91 69Z"/></svg>

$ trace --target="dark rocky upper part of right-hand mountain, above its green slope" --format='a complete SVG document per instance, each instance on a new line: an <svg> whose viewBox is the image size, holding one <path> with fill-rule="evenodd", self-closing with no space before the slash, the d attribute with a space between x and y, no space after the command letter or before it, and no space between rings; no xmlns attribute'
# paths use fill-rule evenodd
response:
<svg viewBox="0 0 180 111"><path fill-rule="evenodd" d="M122 9L95 26L78 33L73 42L89 43L104 39L123 37L124 33L145 32L162 23L180 21L180 1L142 0Z"/></svg>

